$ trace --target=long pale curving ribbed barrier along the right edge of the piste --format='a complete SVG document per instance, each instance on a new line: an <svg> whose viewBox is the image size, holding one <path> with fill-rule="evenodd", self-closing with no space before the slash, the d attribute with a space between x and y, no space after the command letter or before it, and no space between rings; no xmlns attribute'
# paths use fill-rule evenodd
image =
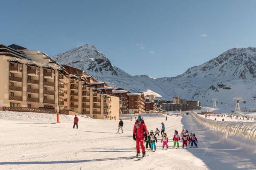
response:
<svg viewBox="0 0 256 170"><path fill-rule="evenodd" d="M192 116L202 125L209 127L212 130L223 132L228 136L244 136L248 139L256 140L256 123L252 122L219 122L209 119L204 119L194 111Z"/></svg>

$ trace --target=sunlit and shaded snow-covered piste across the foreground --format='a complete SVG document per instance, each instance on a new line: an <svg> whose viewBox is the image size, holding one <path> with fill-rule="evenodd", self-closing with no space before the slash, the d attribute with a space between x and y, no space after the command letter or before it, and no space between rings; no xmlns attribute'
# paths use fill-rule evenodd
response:
<svg viewBox="0 0 256 170"><path fill-rule="evenodd" d="M255 170L256 142L222 134L198 124L192 116L143 116L148 130L166 125L172 139L174 130L183 125L198 136L197 149L147 152L142 160L136 155L132 139L134 125L124 120L124 133L117 134L119 121L79 117L79 128L73 129L73 116L44 113L0 112L0 170ZM172 146L173 142L169 142ZM181 145L181 142L180 142Z"/></svg>

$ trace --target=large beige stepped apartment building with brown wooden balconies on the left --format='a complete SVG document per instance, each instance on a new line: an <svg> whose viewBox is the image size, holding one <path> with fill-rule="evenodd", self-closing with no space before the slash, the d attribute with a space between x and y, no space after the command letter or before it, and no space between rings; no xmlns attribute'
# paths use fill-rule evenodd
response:
<svg viewBox="0 0 256 170"><path fill-rule="evenodd" d="M45 53L0 44L0 69L0 107L67 109L96 119L119 119L118 97L100 91L95 99L96 79L59 65Z"/></svg>

